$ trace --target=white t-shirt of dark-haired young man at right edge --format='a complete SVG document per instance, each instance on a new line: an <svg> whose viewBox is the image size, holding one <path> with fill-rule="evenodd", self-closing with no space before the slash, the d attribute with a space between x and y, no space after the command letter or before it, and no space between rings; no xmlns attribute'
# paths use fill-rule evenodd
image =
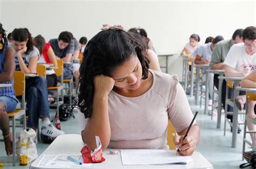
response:
<svg viewBox="0 0 256 169"><path fill-rule="evenodd" d="M227 57L224 64L235 69L235 71L242 72L244 65L248 65L251 71L256 69L256 53L249 55L245 50L245 44L234 44L230 51L227 53Z"/></svg>

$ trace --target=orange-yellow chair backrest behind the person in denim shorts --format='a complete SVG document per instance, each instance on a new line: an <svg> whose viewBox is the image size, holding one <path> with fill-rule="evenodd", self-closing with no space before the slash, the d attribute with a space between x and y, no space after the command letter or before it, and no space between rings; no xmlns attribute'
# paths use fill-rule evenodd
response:
<svg viewBox="0 0 256 169"><path fill-rule="evenodd" d="M14 71L14 90L16 96L25 94L25 73L21 71Z"/></svg>

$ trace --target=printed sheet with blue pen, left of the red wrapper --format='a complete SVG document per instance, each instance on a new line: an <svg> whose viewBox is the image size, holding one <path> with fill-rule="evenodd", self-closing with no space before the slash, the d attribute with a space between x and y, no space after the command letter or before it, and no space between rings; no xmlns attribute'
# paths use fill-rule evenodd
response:
<svg viewBox="0 0 256 169"><path fill-rule="evenodd" d="M37 164L39 168L77 168L77 167L90 167L91 163L78 165L73 161L68 160L68 156L83 162L83 158L78 154L59 154L59 155L49 155L44 154L42 159Z"/></svg>

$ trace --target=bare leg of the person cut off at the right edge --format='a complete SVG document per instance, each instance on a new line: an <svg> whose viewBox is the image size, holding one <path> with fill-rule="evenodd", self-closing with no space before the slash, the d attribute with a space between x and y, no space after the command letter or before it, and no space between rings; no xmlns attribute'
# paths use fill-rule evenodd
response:
<svg viewBox="0 0 256 169"><path fill-rule="evenodd" d="M254 113L254 105L255 105L256 101L250 101L248 103L248 116L251 116L252 118L256 118L255 113ZM256 125L248 122L247 123L248 129L250 131L256 131ZM256 136L255 133L251 133L251 138L252 138L252 144L253 146L256 146Z"/></svg>

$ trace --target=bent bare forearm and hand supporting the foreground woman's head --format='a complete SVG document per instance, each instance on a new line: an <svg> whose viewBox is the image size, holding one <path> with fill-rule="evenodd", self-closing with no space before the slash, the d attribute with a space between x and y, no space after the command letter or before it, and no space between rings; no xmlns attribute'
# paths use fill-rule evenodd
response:
<svg viewBox="0 0 256 169"><path fill-rule="evenodd" d="M95 150L95 136L99 136L104 150L109 145L111 136L108 97L113 89L114 79L99 75L95 77L94 84L95 94L93 95L92 114L82 132L82 138L91 150Z"/></svg>

